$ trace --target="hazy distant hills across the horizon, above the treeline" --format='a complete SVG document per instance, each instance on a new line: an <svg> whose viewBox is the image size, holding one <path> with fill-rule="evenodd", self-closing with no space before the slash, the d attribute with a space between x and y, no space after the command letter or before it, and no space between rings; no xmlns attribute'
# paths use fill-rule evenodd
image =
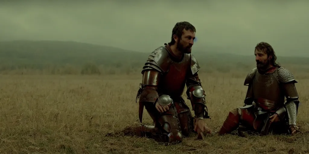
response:
<svg viewBox="0 0 309 154"><path fill-rule="evenodd" d="M254 66L254 55L243 56L223 54L216 51L233 51L233 49L213 49L211 51L194 51L193 55L204 67L239 67ZM237 51L237 49L235 49ZM97 65L134 65L141 67L148 55L116 47L100 46L79 42L63 41L2 41L0 42L0 65L78 65L91 62ZM278 57L281 64L309 64L309 58Z"/></svg>

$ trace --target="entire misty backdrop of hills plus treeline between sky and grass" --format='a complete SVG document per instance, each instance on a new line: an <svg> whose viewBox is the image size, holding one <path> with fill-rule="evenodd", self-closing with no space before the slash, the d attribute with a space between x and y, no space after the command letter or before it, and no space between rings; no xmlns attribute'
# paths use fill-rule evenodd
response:
<svg viewBox="0 0 309 154"><path fill-rule="evenodd" d="M250 71L255 58L233 54L194 51L201 72ZM227 50L227 49L222 49ZM127 51L77 42L9 41L0 42L0 73L40 74L132 74L140 73L149 52ZM283 65L309 72L309 58L278 57Z"/></svg>

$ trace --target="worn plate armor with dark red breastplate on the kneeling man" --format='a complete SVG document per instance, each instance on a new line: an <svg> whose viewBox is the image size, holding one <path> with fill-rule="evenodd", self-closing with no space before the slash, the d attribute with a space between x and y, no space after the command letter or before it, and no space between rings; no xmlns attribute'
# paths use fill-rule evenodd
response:
<svg viewBox="0 0 309 154"><path fill-rule="evenodd" d="M197 75L199 69L193 55L184 54L180 61L176 60L168 45L153 51L142 68L143 80L137 94L139 119L142 122L145 106L160 134L168 136L162 137L163 142L181 142L193 131L190 108L181 97L185 86L196 117L209 118L205 91ZM158 112L156 103L168 106L169 110Z"/></svg>

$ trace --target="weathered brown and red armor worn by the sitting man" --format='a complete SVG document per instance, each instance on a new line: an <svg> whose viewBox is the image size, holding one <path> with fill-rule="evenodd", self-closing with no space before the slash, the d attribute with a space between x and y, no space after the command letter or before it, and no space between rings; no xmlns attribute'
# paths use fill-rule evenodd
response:
<svg viewBox="0 0 309 154"><path fill-rule="evenodd" d="M285 67L279 67L268 74L260 74L256 68L252 69L244 82L244 85L248 86L245 106L229 113L220 134L230 133L238 125L261 130L265 118L274 113L279 115L281 121L287 119L289 125L296 125L298 94L294 83L297 81ZM284 103L285 97L286 103Z"/></svg>

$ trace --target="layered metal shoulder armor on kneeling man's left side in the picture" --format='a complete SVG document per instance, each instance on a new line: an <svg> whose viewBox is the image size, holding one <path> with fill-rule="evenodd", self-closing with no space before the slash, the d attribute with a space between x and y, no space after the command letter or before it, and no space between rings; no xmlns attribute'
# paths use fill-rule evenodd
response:
<svg viewBox="0 0 309 154"><path fill-rule="evenodd" d="M148 59L143 66L142 73L149 69L165 73L168 71L171 62L172 60L169 57L169 53L165 47L158 47L148 56Z"/></svg>

